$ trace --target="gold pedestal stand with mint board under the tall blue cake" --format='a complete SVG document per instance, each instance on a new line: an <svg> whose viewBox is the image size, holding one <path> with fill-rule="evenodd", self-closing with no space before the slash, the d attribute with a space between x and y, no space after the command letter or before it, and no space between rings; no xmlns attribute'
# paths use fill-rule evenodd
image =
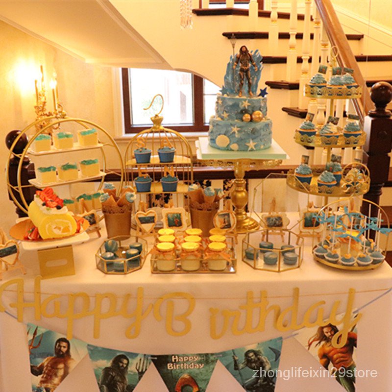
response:
<svg viewBox="0 0 392 392"><path fill-rule="evenodd" d="M237 219L236 230L239 234L258 230L260 225L245 211L248 203L245 172L279 166L283 159L288 159L286 152L275 142L265 150L259 151L224 151L213 148L208 144L208 138L196 141L197 159L205 166L214 168L232 168L234 170L234 184L231 201L235 207Z"/></svg>

